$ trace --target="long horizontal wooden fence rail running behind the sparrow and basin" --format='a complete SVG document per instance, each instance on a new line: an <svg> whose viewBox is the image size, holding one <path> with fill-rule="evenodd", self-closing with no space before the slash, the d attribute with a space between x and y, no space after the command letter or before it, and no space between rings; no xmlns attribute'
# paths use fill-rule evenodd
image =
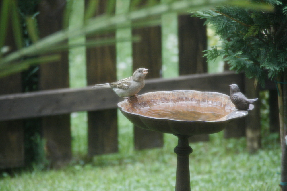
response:
<svg viewBox="0 0 287 191"><path fill-rule="evenodd" d="M191 74L178 78L146 80L139 94L164 90L215 91L229 95L229 84L243 85L244 76L234 72ZM0 121L59 115L75 111L113 109L123 101L111 89L63 88L0 96Z"/></svg>

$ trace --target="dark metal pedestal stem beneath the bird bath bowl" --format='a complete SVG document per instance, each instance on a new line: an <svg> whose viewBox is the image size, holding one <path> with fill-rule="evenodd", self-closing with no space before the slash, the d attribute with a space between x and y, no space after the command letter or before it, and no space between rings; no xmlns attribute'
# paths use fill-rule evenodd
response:
<svg viewBox="0 0 287 191"><path fill-rule="evenodd" d="M188 145L189 136L175 136L179 139L177 146L174 148L174 152L177 154L175 191L190 191L189 154L192 153L192 148Z"/></svg>

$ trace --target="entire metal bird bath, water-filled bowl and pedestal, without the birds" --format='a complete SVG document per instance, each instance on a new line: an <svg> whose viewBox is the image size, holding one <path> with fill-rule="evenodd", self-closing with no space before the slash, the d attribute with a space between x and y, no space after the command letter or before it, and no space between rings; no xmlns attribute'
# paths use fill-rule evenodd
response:
<svg viewBox="0 0 287 191"><path fill-rule="evenodd" d="M175 90L150 92L137 99L125 100L118 107L137 127L172 133L178 137L176 191L190 190L189 154L192 135L222 131L232 120L247 115L235 109L230 97L217 92Z"/></svg>

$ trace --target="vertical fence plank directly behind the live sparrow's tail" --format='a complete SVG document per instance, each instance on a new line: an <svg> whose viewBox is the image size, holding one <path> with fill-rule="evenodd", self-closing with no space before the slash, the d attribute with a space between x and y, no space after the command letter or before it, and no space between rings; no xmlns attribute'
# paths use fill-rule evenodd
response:
<svg viewBox="0 0 287 191"><path fill-rule="evenodd" d="M86 1L87 5L88 1ZM100 0L96 15L104 13L106 1ZM87 37L87 42L96 38L114 38L115 33ZM87 84L101 84L116 80L115 45L87 48ZM100 101L95 98L95 102ZM88 155L118 151L117 109L88 112Z"/></svg>

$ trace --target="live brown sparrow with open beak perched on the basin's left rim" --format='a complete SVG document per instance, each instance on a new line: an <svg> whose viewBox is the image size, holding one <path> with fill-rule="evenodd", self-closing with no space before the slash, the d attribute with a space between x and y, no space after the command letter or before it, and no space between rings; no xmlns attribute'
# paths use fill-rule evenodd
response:
<svg viewBox="0 0 287 191"><path fill-rule="evenodd" d="M136 94L144 87L144 77L148 73L148 69L139 68L135 70L133 76L118 80L112 83L97 84L93 86L93 89L98 88L112 88L114 92L123 98L128 98L136 96Z"/></svg>

